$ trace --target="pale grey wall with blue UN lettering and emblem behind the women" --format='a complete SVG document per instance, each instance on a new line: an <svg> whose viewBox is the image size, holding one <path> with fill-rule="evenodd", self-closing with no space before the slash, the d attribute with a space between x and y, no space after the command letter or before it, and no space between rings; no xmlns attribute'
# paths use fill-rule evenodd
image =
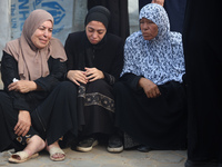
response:
<svg viewBox="0 0 222 167"><path fill-rule="evenodd" d="M129 1L130 33L139 29L138 0ZM84 29L87 0L0 0L0 50L12 39L20 37L22 24L34 9L46 9L57 23L53 37L64 43L68 33ZM0 51L0 59L2 51Z"/></svg>

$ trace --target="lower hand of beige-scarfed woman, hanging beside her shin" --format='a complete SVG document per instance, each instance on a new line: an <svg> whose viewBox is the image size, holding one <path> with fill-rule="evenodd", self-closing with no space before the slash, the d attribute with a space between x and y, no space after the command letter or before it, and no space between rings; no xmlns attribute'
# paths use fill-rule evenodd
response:
<svg viewBox="0 0 222 167"><path fill-rule="evenodd" d="M14 134L18 136L26 136L31 127L31 117L29 111L20 110L18 116L18 122L14 127Z"/></svg>

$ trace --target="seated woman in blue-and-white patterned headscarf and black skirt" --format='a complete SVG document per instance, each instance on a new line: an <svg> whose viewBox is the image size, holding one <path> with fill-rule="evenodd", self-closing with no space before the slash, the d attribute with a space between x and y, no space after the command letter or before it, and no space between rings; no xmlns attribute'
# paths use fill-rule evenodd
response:
<svg viewBox="0 0 222 167"><path fill-rule="evenodd" d="M185 72L182 38L170 31L165 10L140 11L140 31L124 46L121 81L114 86L115 115L125 148L183 149L186 144ZM144 150L144 151L145 151Z"/></svg>

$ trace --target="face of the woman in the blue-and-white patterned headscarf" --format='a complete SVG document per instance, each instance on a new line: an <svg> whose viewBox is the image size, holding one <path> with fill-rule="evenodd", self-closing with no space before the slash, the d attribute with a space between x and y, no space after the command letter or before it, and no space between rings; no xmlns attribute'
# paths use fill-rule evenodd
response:
<svg viewBox="0 0 222 167"><path fill-rule="evenodd" d="M140 19L140 29L144 40L151 40L158 36L158 26L145 18Z"/></svg>

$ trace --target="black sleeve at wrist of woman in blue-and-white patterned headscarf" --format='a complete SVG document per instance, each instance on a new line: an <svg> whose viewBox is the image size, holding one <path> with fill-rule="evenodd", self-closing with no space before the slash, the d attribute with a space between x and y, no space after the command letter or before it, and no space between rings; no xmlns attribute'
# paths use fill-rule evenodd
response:
<svg viewBox="0 0 222 167"><path fill-rule="evenodd" d="M124 73L121 78L120 81L124 82L128 85L130 88L133 90L139 90L141 88L138 87L138 82L142 78L142 76L137 76L134 73Z"/></svg>

